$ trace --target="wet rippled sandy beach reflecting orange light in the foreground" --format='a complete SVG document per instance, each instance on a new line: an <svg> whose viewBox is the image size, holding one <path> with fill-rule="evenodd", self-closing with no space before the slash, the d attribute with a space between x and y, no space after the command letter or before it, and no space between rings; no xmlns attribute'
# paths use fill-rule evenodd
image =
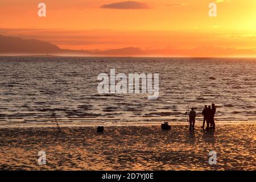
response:
<svg viewBox="0 0 256 182"><path fill-rule="evenodd" d="M3 128L0 169L6 170L256 170L256 123L218 125L194 133L187 125ZM217 164L208 163L209 151ZM47 164L38 164L46 151Z"/></svg>

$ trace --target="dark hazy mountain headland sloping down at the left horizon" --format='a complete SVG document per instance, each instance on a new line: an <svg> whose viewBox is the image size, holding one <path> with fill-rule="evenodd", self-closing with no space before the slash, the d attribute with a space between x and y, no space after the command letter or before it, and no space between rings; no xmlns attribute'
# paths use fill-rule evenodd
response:
<svg viewBox="0 0 256 182"><path fill-rule="evenodd" d="M0 35L0 53L58 53L54 44L36 39L21 39Z"/></svg>

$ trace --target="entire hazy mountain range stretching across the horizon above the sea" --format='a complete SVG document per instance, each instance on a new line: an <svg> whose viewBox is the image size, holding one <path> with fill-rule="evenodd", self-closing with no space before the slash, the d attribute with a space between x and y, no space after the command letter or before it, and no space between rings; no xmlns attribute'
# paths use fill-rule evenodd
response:
<svg viewBox="0 0 256 182"><path fill-rule="evenodd" d="M222 47L196 48L151 48L142 49L126 47L110 49L108 51L88 51L61 49L54 44L36 39L21 39L0 35L0 55L60 55L60 56L186 56L186 57L214 57L218 56L256 56L256 49L237 49Z"/></svg>

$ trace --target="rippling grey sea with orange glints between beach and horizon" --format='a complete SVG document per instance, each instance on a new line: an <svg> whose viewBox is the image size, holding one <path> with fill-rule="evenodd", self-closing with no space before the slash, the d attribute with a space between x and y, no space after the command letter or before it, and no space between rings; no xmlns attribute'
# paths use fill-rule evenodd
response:
<svg viewBox="0 0 256 182"><path fill-rule="evenodd" d="M159 98L98 93L98 75L159 73ZM0 127L151 125L187 122L216 105L216 122L256 121L256 59L173 57L0 57Z"/></svg>

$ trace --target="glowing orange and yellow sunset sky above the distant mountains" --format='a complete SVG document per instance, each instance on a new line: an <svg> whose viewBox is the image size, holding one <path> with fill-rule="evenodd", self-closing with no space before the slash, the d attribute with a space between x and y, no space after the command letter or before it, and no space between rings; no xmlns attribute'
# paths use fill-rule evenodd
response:
<svg viewBox="0 0 256 182"><path fill-rule="evenodd" d="M46 3L46 17L38 3ZM217 17L209 17L216 2ZM1 0L0 34L63 49L194 49L256 55L255 0ZM237 53L240 49L240 53ZM164 51L163 51L164 52Z"/></svg>

